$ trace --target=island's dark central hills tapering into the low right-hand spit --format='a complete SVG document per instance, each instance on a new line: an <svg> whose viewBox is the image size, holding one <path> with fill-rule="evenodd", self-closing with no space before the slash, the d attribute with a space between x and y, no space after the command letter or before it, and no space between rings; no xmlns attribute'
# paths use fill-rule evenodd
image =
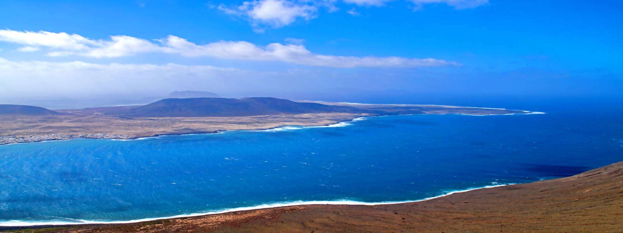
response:
<svg viewBox="0 0 623 233"><path fill-rule="evenodd" d="M307 113L351 113L366 116L404 114L526 114L510 109L478 107L422 106L396 104L342 104L290 101L270 97L233 98L168 98L151 104L85 109L62 109L64 113L103 114L113 117L245 117Z"/></svg>

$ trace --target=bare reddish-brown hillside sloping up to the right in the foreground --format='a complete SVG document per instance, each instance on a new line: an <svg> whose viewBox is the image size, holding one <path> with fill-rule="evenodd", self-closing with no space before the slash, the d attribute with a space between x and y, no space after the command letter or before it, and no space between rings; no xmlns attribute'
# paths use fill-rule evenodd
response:
<svg viewBox="0 0 623 233"><path fill-rule="evenodd" d="M19 231L19 230L18 230ZM404 204L307 205L52 232L623 232L623 162Z"/></svg>

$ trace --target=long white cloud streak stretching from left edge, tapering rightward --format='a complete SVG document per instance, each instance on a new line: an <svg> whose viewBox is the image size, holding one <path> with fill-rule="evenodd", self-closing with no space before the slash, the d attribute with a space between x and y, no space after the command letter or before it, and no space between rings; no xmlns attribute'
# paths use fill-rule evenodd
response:
<svg viewBox="0 0 623 233"><path fill-rule="evenodd" d="M29 38L25 39L24 35ZM295 63L300 65L330 66L341 68L354 67L398 67L412 68L417 66L443 66L457 65L455 62L447 62L434 58L403 58L403 57L352 57L320 55L312 53L303 45L270 43L266 46L258 46L246 41L220 41L197 45L181 37L169 35L168 37L151 42L145 39L115 35L110 40L90 40L80 35L69 35L80 38L74 40L75 44L63 43L62 47L50 44L47 37L56 38L65 33L53 32L19 32L12 30L0 30L0 40L21 43L27 45L47 46L53 51L49 56L77 55L94 58L125 57L138 53L173 53L184 57L214 57L222 59L254 60L254 61L277 61ZM32 37L32 38L31 38ZM34 39L33 39L34 38ZM156 43L157 42L157 43ZM71 48L71 49L67 49Z"/></svg>

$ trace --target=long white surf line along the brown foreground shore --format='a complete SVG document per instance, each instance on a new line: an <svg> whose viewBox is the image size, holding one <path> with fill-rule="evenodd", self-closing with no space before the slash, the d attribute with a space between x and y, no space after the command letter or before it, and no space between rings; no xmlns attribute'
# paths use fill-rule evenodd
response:
<svg viewBox="0 0 623 233"><path fill-rule="evenodd" d="M300 206L300 205L309 205L309 204L359 204L364 206L374 206L378 204L401 204L401 203L414 203L419 201L427 201L430 199L441 198L443 196L448 196L455 193L464 193L472 190L480 190L482 188L495 188L506 185L516 185L514 183L504 184L504 185L487 185L478 188L467 188L465 190L455 190L449 191L444 194L440 194L439 196L433 196L430 198L417 199L417 200L408 200L408 201L382 201L382 202L374 202L367 203L363 201L352 201L348 199L338 199L335 201L291 201L284 203L272 203L272 204L259 204L257 206L249 206L249 207L239 207L239 208L231 208L231 209L223 209L221 211L213 211L213 212L197 212L193 214L179 214L175 216L169 217L148 217L145 219L134 219L128 221L93 221L93 220L83 220L83 219L72 219L77 222L64 222L64 221L20 221L20 220L9 220L0 222L0 227L24 227L24 226L55 226L55 225L79 225L79 224L125 224L125 223L136 223L136 222L146 222L146 221L156 221L161 219L174 219L179 217L196 217L196 216L206 216L211 214L222 214L226 212L234 212L234 211L249 211L254 209L266 209L266 208L278 208L278 207L287 207L287 206ZM62 219L70 219L67 217L59 217Z"/></svg>

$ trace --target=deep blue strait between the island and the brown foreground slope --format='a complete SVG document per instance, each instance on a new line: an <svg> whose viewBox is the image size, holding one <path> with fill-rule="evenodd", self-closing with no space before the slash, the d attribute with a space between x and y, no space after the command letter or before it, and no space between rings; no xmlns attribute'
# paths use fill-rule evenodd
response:
<svg viewBox="0 0 623 233"><path fill-rule="evenodd" d="M0 222L128 221L292 201L417 200L623 160L620 111L545 112L369 117L343 127L2 145Z"/></svg>

